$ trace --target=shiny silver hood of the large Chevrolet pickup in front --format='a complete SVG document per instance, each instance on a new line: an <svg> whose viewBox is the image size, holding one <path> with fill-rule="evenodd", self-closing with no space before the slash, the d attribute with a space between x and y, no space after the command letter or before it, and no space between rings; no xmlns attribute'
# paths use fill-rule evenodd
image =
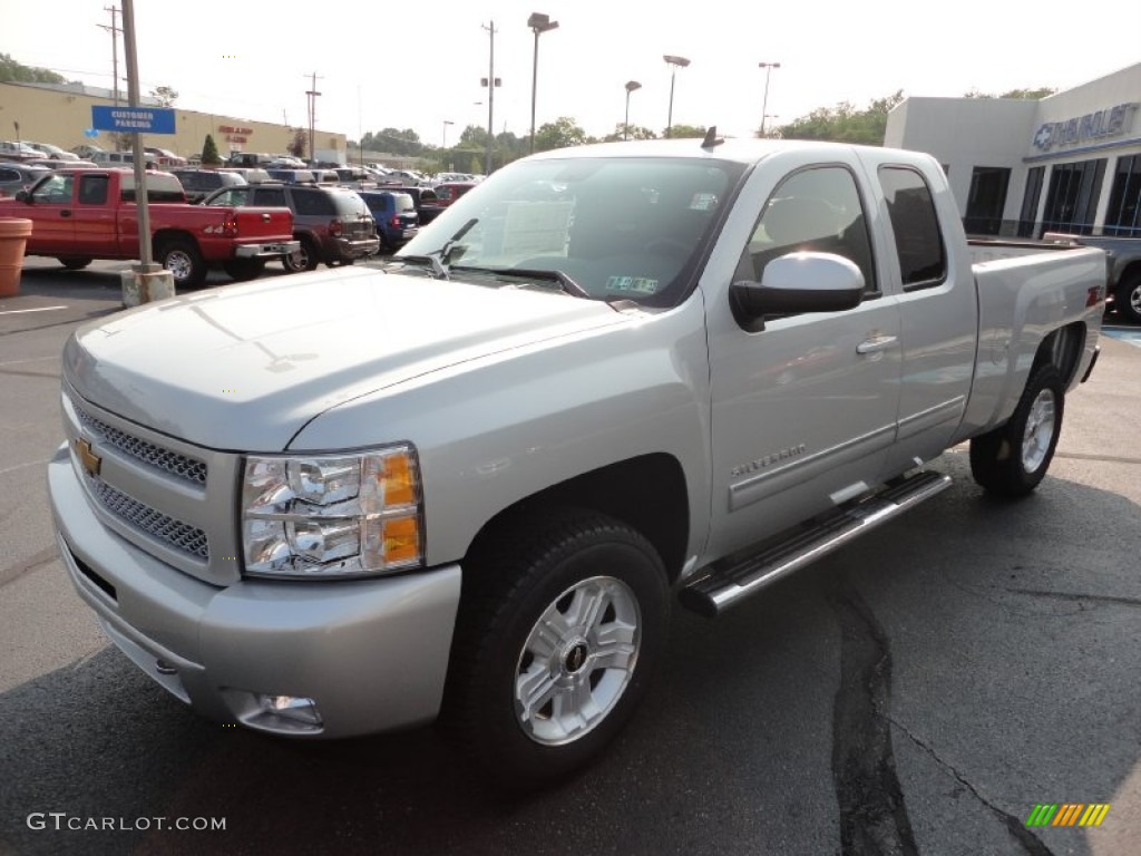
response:
<svg viewBox="0 0 1141 856"><path fill-rule="evenodd" d="M472 360L623 323L607 304L348 267L148 304L80 328L67 381L191 443L280 451L327 409Z"/></svg>

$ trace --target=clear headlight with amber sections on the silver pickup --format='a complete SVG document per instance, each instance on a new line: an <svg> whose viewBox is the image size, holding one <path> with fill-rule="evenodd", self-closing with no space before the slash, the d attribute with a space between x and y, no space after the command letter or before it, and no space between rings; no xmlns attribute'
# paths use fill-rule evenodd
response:
<svg viewBox="0 0 1141 856"><path fill-rule="evenodd" d="M415 450L245 459L242 549L251 576L341 579L423 564Z"/></svg>

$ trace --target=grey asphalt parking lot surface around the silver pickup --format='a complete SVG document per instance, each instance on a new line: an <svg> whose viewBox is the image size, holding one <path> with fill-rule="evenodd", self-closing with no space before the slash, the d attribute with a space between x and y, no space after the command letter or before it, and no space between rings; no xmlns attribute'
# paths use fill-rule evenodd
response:
<svg viewBox="0 0 1141 856"><path fill-rule="evenodd" d="M1112 325L1031 498L988 500L948 452L955 485L909 515L715 622L678 609L605 757L508 796L430 728L205 721L102 636L43 470L62 345L119 310L120 267L31 260L0 299L0 855L1138 853L1141 329ZM1055 802L1109 809L1027 826Z"/></svg>

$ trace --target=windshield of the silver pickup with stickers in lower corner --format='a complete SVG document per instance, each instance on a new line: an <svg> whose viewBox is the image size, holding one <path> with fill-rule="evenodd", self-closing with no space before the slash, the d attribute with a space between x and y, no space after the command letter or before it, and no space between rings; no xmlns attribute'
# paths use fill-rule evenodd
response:
<svg viewBox="0 0 1141 856"><path fill-rule="evenodd" d="M709 158L521 161L463 194L394 260L447 244L438 260L452 276L557 270L593 298L672 306L743 172Z"/></svg>

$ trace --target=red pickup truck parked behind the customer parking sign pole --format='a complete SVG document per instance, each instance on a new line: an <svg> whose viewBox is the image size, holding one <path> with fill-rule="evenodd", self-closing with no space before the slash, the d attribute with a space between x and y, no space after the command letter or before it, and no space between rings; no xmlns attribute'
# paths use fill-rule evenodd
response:
<svg viewBox="0 0 1141 856"><path fill-rule="evenodd" d="M178 179L147 171L154 260L176 286L200 285L210 267L251 280L269 259L296 252L288 208L204 208L186 202ZM92 259L137 259L135 173L128 169L59 169L14 199L0 217L32 220L25 255L51 256L79 269Z"/></svg>

